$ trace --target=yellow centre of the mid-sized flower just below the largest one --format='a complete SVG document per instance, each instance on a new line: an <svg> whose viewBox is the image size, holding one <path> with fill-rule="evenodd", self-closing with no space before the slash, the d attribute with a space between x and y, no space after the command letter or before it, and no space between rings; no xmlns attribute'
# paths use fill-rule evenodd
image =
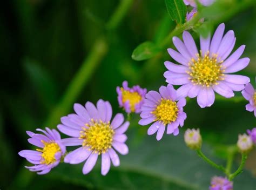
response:
<svg viewBox="0 0 256 190"><path fill-rule="evenodd" d="M165 125L170 124L171 122L176 121L178 117L178 106L176 101L162 98L156 110L151 113L156 116L156 121L159 120Z"/></svg>

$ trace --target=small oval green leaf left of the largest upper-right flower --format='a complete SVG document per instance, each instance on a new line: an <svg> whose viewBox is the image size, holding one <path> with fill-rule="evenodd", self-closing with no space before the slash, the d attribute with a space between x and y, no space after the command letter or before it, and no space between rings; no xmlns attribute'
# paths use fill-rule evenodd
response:
<svg viewBox="0 0 256 190"><path fill-rule="evenodd" d="M161 49L153 42L144 42L132 52L132 59L145 60L154 57Z"/></svg>

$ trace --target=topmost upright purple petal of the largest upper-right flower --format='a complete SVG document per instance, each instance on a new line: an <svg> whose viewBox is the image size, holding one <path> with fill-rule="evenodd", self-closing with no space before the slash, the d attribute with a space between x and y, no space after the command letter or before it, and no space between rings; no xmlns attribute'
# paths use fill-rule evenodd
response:
<svg viewBox="0 0 256 190"><path fill-rule="evenodd" d="M221 39L223 37L224 30L225 30L225 24L221 23L216 29L216 31L214 32L211 45L210 45L210 56L212 55L212 53L217 53Z"/></svg>

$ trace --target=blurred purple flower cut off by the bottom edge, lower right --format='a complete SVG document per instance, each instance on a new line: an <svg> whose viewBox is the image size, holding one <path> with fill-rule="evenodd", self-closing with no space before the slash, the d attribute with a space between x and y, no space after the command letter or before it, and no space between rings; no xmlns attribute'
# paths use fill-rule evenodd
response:
<svg viewBox="0 0 256 190"><path fill-rule="evenodd" d="M227 178L213 177L210 190L233 190L233 182Z"/></svg>

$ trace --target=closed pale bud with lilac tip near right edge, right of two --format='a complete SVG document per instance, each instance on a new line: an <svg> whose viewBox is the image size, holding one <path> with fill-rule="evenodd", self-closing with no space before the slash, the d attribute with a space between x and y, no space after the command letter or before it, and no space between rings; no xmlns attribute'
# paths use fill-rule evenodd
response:
<svg viewBox="0 0 256 190"><path fill-rule="evenodd" d="M253 142L250 136L247 134L239 134L237 141L238 150L241 153L248 153L253 148Z"/></svg>

